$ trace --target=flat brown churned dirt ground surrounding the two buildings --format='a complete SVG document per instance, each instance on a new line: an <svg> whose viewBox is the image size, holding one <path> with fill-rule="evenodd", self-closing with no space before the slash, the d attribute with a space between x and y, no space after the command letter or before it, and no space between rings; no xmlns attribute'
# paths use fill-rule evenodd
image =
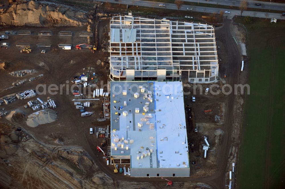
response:
<svg viewBox="0 0 285 189"><path fill-rule="evenodd" d="M107 21L101 22L105 25ZM7 28L2 28L3 31L8 30ZM9 30L47 30L57 33L62 31L62 28L9 28ZM86 30L84 27L79 28L68 28L68 31L74 33L81 32ZM66 31L67 31L66 30ZM225 70L227 67L229 77L226 78L227 83L230 85L237 84L239 82L239 70L241 62L241 53L239 52L238 47L233 41L232 34L233 26L231 20L225 20L224 25L218 28L216 31L217 36L217 45L220 46L218 54L222 59L220 63L221 70ZM101 36L106 36L106 33L102 32L103 35L99 32L99 41L103 41ZM77 35L77 34L76 34ZM25 38L25 40L24 40ZM107 84L107 72L109 64L97 65L97 60L104 60L105 57L109 56L108 53L96 51L94 54L89 49L83 49L77 51L75 49L71 51L64 51L58 48L58 44L61 41L70 44L76 45L77 43L86 43L86 37L71 37L69 40L68 37L59 37L59 36L19 36L11 35L9 36L10 46L8 49L0 49L1 53L1 62L5 62L5 70L0 70L0 88L7 89L12 86L12 83L17 79L22 79L19 77L14 77L9 75L9 72L16 70L24 69L35 69L39 74L43 74L43 77L37 78L35 81L26 82L22 85L14 87L12 89L3 90L0 93L0 96L5 96L20 91L25 91L27 89L35 89L38 84L50 84L60 85L67 84L67 81L71 81L74 75L81 74L86 70L83 68L93 67L95 68L94 72L98 77L98 84L100 87L100 81L103 81L104 84ZM16 43L29 43L32 44L31 53L20 53L21 48L16 47ZM51 48L46 48L46 53L40 53L41 49L36 48L35 44L45 43L51 44ZM40 66L39 63L44 62L44 66ZM224 72L221 72L223 75ZM24 77L23 77L24 78ZM25 76L29 78L29 76ZM70 83L70 82L69 82ZM71 84L71 83L70 83ZM187 83L186 83L187 84ZM218 83L222 86L221 81ZM203 85L203 93L206 85ZM193 88L193 87L192 87ZM105 88L106 90L106 88ZM187 90L187 89L186 89ZM191 87L189 88L191 91ZM63 87L63 91L66 91L66 86ZM24 105L30 100L16 100L15 102L2 105L1 108L5 108L5 111L11 111L15 109L23 110L25 112L25 118L18 119L15 124L20 125L25 130L27 130L30 135L37 138L39 141L43 141L46 144L54 144L54 136L60 136L63 145L73 145L81 146L93 161L100 167L100 169L112 177L114 182L114 188L120 188L120 180L125 181L141 181L141 182L151 182L151 185L155 188L163 188L165 182L160 178L132 178L126 177L120 174L113 173L113 167L107 166L105 159L103 159L103 154L96 150L96 146L102 142L101 138L96 138L94 135L89 134L90 127L104 127L110 123L107 122L97 122L99 118L99 112L101 111L101 100L91 102L91 107L87 110L94 112L94 115L90 117L82 118L80 116L79 110L74 108L73 101L74 98L72 93L69 90L68 94L56 94L56 95L37 95L42 100L50 96L57 105L55 109L57 112L57 121L54 121L49 124L39 125L38 127L28 127L25 124L27 116L32 113L31 109L25 109ZM231 148L231 133L233 131L233 110L236 95L210 95L202 94L195 95L196 102L191 102L191 95L185 95L185 104L189 104L194 112L194 117L192 120L192 127L189 133L189 142L194 143L194 153L190 153L190 161L196 161L196 165L191 165L191 171L189 178L172 178L174 184L176 183L177 187L185 188L190 187L191 184L205 183L205 187L212 188L223 188L226 183L227 170L227 159L229 157L229 151ZM205 109L211 109L212 112L204 113ZM222 112L225 114L222 115ZM223 119L223 125L217 125L215 123L215 115L218 115ZM2 121L7 121L2 118ZM193 124L198 125L198 134L193 133L194 126ZM223 134L216 135L215 131L221 129ZM49 136L49 137L48 137ZM201 143L203 136L209 138L210 146L213 146L215 151L209 152L208 157L203 158L203 151L201 151ZM55 144L58 145L58 144ZM200 150L199 150L200 149ZM107 150L107 146L103 150ZM189 182L188 182L189 181ZM175 186L175 185L174 185Z"/></svg>

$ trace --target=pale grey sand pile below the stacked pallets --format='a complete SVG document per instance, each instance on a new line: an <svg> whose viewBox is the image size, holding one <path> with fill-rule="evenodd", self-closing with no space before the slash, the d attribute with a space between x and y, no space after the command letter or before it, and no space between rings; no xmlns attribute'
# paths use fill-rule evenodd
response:
<svg viewBox="0 0 285 189"><path fill-rule="evenodd" d="M54 110L45 109L30 114L27 119L27 125L36 127L41 124L51 123L56 121L56 112Z"/></svg>

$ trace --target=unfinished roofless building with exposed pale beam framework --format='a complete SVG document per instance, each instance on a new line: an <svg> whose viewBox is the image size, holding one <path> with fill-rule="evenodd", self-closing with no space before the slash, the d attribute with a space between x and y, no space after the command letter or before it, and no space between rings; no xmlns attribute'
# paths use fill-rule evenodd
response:
<svg viewBox="0 0 285 189"><path fill-rule="evenodd" d="M113 16L110 21L110 77L113 81L218 78L213 26L166 19Z"/></svg>

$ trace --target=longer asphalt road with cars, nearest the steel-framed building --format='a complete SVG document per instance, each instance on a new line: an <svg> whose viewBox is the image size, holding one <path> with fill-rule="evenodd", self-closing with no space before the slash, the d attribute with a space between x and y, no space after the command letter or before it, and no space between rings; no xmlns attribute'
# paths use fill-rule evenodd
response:
<svg viewBox="0 0 285 189"><path fill-rule="evenodd" d="M101 2L110 2L110 3L115 3L114 0L97 0ZM135 6L143 6L143 7L154 7L154 8L160 8L160 9L174 9L177 10L177 7L174 3L163 3L166 6L165 7L160 7L159 2L152 2L152 1L141 1L141 0L124 0L120 2L121 4L128 4L130 6L133 5ZM117 2L118 3L118 2ZM189 5L182 5L180 10L186 10L187 7L191 7ZM217 12L219 13L221 10L223 11L229 11L230 14L228 14L228 18L233 18L235 15L240 15L241 11L240 10L232 10L232 9L220 9L220 8L211 8L211 7L198 7L195 6L193 7L193 11L196 12L207 12L207 13L213 13ZM189 11L190 13L190 11ZM188 15L189 16L189 15ZM244 11L242 16L251 16L251 17L258 17L258 18L276 18L276 19L282 19L285 20L285 16L282 16L282 14L278 13L272 13L272 12L255 12L255 11ZM268 20L269 22L269 20Z"/></svg>

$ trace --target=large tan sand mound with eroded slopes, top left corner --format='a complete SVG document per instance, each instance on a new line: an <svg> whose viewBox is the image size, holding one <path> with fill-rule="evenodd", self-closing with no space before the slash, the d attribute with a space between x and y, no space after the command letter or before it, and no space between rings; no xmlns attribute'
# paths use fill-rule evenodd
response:
<svg viewBox="0 0 285 189"><path fill-rule="evenodd" d="M89 22L86 13L64 5L19 1L8 9L0 8L0 25L4 26L83 26Z"/></svg>

